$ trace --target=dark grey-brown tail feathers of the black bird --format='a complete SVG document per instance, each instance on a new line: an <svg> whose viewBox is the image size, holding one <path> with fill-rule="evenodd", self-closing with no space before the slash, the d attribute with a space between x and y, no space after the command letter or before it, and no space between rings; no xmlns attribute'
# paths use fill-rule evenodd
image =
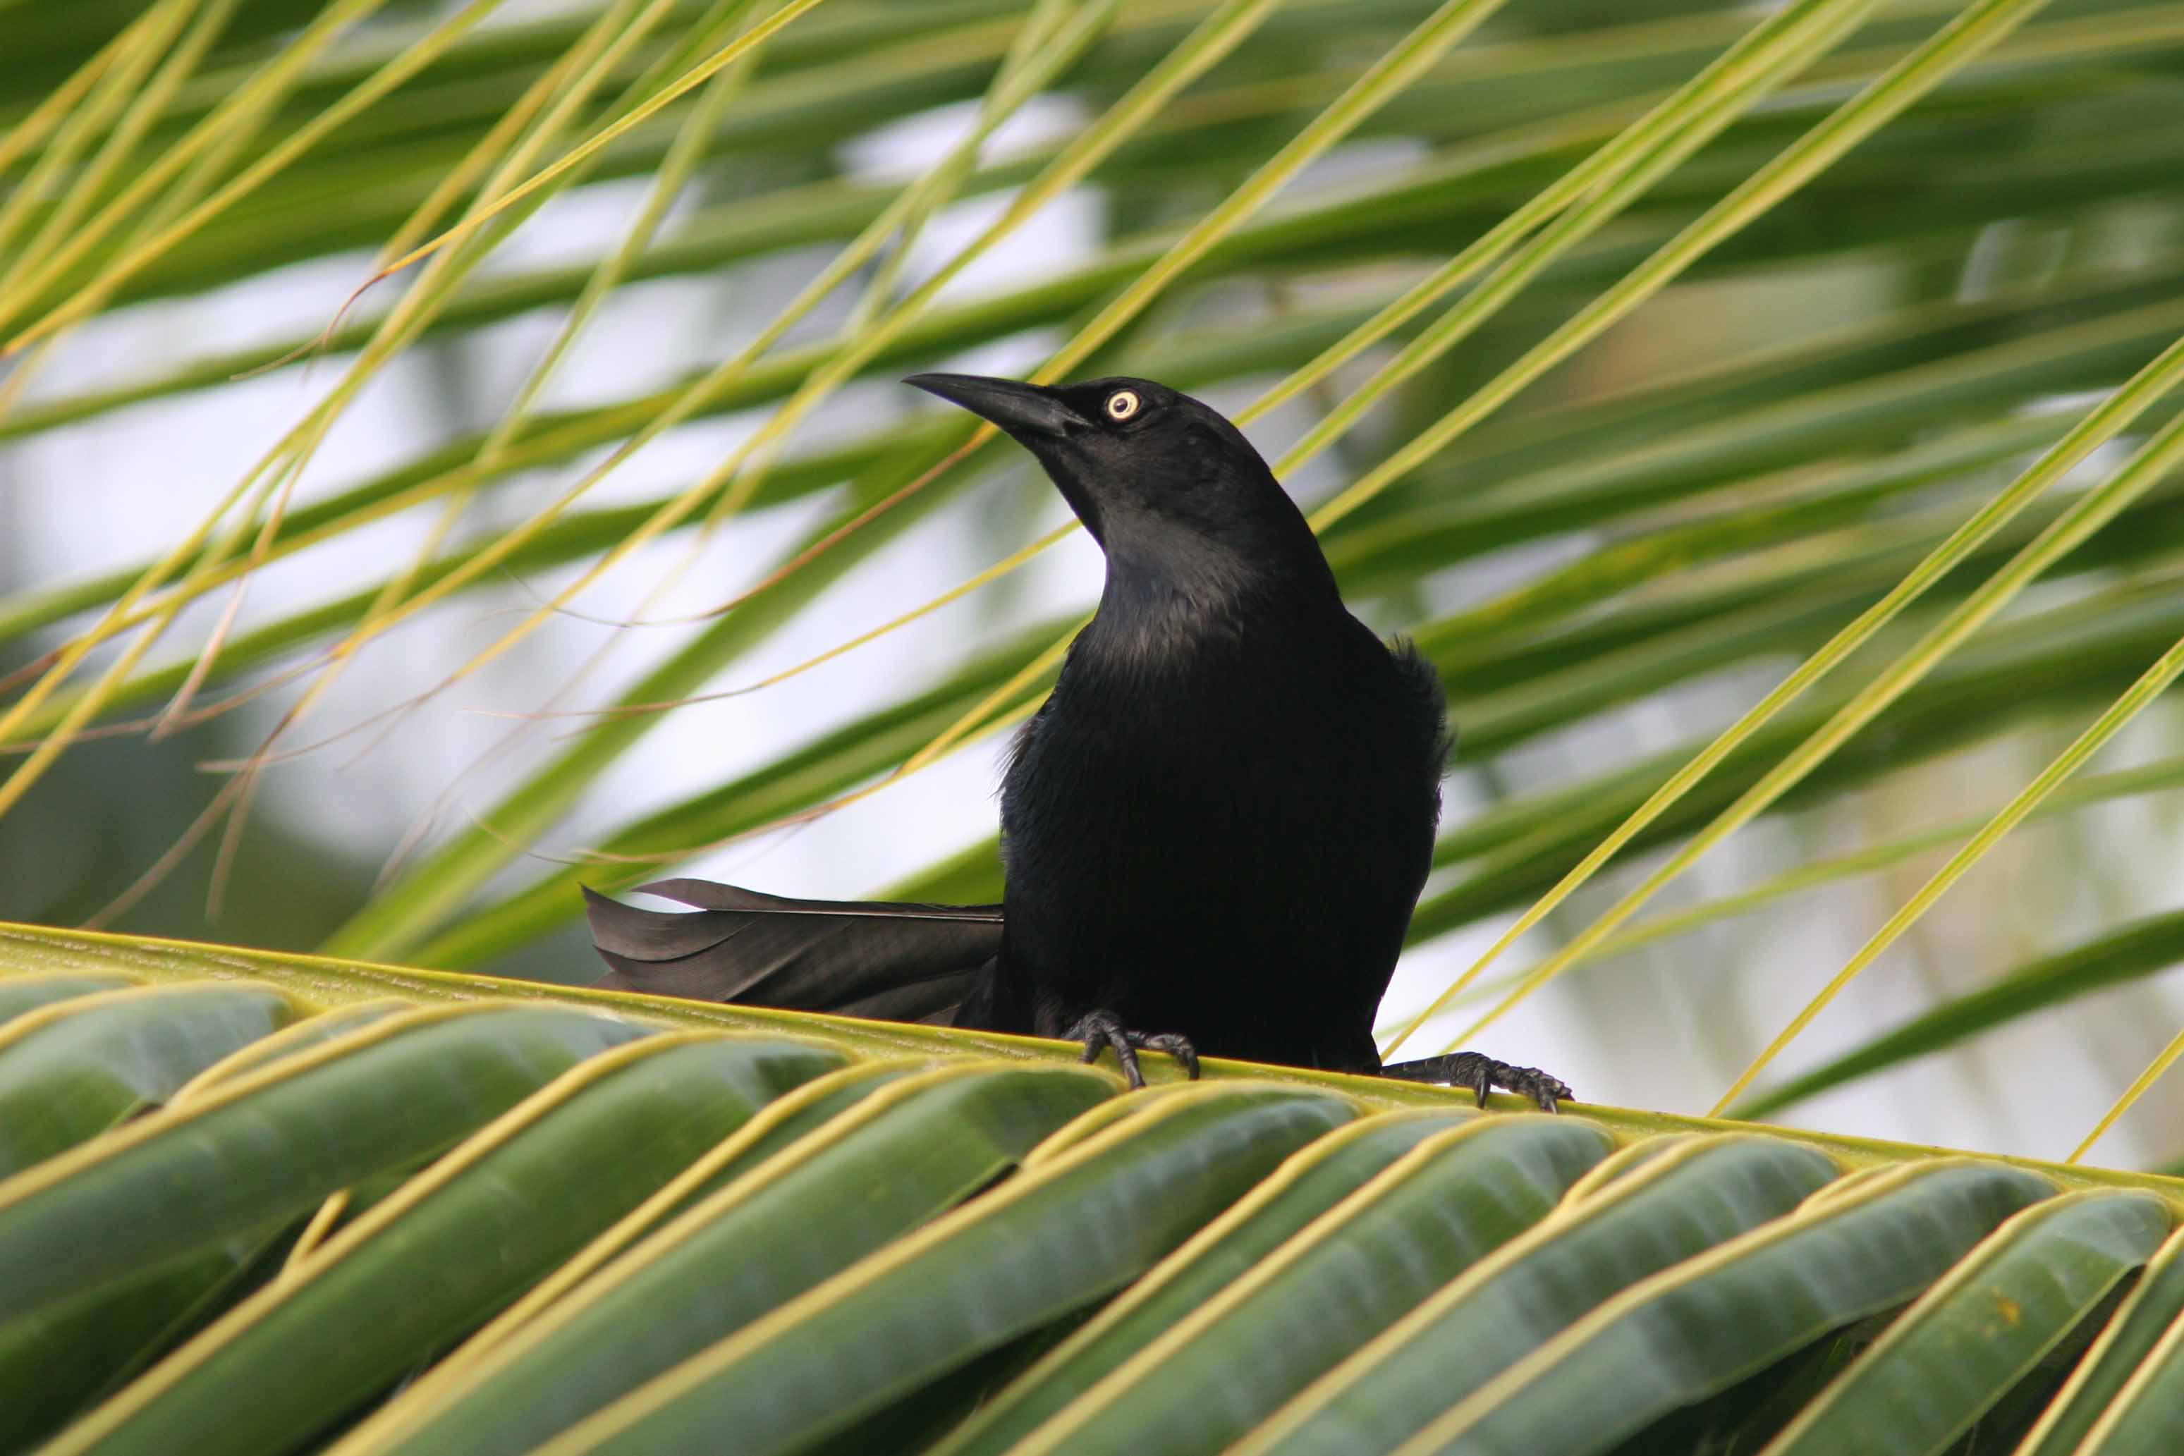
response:
<svg viewBox="0 0 2184 1456"><path fill-rule="evenodd" d="M695 912L585 891L614 991L887 1022L950 1022L992 976L1000 906L784 899L710 880L640 884Z"/></svg>

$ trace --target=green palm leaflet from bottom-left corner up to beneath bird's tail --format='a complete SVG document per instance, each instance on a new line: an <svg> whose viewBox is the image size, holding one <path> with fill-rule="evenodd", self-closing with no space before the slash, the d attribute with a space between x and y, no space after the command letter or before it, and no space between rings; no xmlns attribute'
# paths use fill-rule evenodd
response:
<svg viewBox="0 0 2184 1456"><path fill-rule="evenodd" d="M563 1072L151 1369L59 1452L286 1452L432 1358L745 1124L841 1065L651 1037Z"/></svg>

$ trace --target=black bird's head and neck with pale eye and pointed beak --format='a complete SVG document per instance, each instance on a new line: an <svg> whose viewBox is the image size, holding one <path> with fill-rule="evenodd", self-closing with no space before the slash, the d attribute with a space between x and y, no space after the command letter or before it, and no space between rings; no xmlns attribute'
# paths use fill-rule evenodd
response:
<svg viewBox="0 0 2184 1456"><path fill-rule="evenodd" d="M1306 578L1332 589L1319 541L1243 430L1153 380L1022 384L974 373L904 380L994 421L1037 456L1116 574Z"/></svg>

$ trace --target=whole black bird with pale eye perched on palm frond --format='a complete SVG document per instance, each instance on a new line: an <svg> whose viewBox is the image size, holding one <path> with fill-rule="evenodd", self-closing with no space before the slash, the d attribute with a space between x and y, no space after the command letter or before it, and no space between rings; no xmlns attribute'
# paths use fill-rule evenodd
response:
<svg viewBox="0 0 2184 1456"><path fill-rule="evenodd" d="M922 373L1024 445L1107 554L1000 790L1002 906L756 895L662 915L592 895L603 984L1114 1048L1382 1072L1374 1011L1433 862L1446 694L1343 607L1236 426L1151 380ZM1459 1052L1385 1070L1553 1111L1570 1089Z"/></svg>

